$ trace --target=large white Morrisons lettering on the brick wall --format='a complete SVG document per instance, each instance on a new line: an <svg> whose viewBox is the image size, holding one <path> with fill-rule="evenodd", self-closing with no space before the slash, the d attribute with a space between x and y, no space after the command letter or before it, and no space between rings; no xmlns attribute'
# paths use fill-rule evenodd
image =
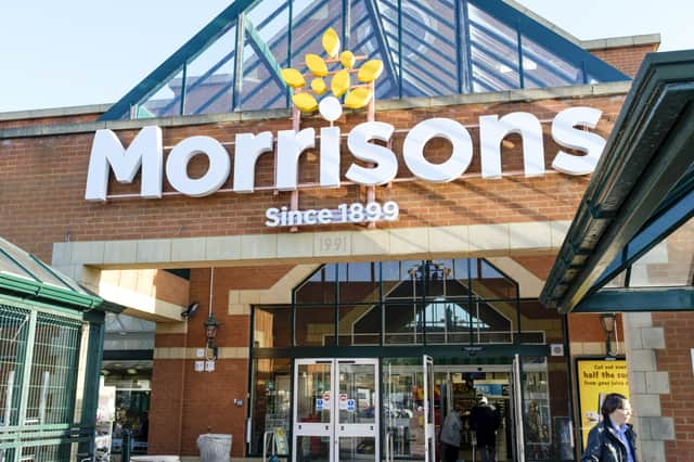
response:
<svg viewBox="0 0 694 462"><path fill-rule="evenodd" d="M570 107L562 111L552 121L552 139L562 147L579 151L582 155L558 151L552 168L567 175L591 174L605 146L605 140L583 128L595 128L602 112L591 107ZM368 167L352 163L345 177L358 184L380 185L393 181L398 171L396 154L372 141L388 142L395 127L382 121L368 121L355 127L347 136L347 146ZM542 127L529 113L511 113L479 118L480 159L483 178L499 178L501 171L501 142L512 133L523 139L523 164L526 176L544 174L544 145ZM320 129L320 187L338 188L340 183L339 127ZM426 159L424 146L435 138L444 138L451 145L450 157L434 164ZM316 147L316 130L283 130L277 136L277 167L274 187L280 191L294 191L298 187L298 162L301 154ZM269 131L258 134L240 133L235 137L233 161L233 191L252 193L255 190L255 169L258 157L274 152ZM195 155L209 161L207 171L200 178L188 175L188 164ZM473 140L467 129L455 120L432 118L417 124L407 134L402 158L415 177L430 182L447 182L464 174L473 158ZM191 137L178 143L164 167L162 129L144 127L126 149L111 130L98 130L91 149L87 174L88 201L105 201L108 175L113 170L117 181L130 183L141 170L140 195L162 197L164 174L177 191L192 197L214 194L231 175L231 159L227 149L209 137ZM165 171L164 171L165 170Z"/></svg>

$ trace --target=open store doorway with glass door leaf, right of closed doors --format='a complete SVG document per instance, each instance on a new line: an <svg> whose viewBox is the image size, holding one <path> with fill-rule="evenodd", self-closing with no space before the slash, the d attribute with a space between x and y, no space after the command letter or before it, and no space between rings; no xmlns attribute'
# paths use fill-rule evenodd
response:
<svg viewBox="0 0 694 462"><path fill-rule="evenodd" d="M426 368L423 371L414 358L384 361L383 426L393 454L389 460L425 461L433 453L438 455L434 460L440 460L444 453L441 425L449 412L459 410L463 432L458 460L481 461L481 449L473 429L473 414L478 411L473 409L484 396L498 419L494 460L524 461L520 381L516 360L501 364L446 362L446 359L434 360L433 374L427 380ZM427 386L429 380L433 386ZM433 421L433 431L429 432L425 424L428 419L424 419L427 414ZM435 441L427 445L429 434L435 435Z"/></svg>

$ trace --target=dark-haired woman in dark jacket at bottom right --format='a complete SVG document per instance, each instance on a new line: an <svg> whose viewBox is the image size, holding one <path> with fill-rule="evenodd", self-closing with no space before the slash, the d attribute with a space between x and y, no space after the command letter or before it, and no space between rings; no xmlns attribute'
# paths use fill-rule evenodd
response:
<svg viewBox="0 0 694 462"><path fill-rule="evenodd" d="M637 462L637 435L627 424L631 416L629 400L611 393L600 411L603 421L588 434L581 462Z"/></svg>

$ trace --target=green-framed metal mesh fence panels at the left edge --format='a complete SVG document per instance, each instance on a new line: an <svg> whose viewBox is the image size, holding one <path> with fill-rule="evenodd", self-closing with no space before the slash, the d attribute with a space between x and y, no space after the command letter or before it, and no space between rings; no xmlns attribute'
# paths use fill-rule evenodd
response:
<svg viewBox="0 0 694 462"><path fill-rule="evenodd" d="M0 304L0 462L69 461L85 323L23 305Z"/></svg>

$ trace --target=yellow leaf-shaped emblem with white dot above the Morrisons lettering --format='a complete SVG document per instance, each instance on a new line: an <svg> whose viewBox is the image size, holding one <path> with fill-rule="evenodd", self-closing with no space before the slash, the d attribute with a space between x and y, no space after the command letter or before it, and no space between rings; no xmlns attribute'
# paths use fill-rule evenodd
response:
<svg viewBox="0 0 694 462"><path fill-rule="evenodd" d="M332 27L323 34L322 42L327 59L324 60L318 54L306 55L306 66L312 78L310 87L307 87L305 76L294 68L282 69L282 78L294 89L292 102L301 113L311 114L319 110L326 120L333 121L342 115L343 104L338 98L345 95L344 106L351 110L364 107L371 102L374 98L373 82L383 73L383 62L370 60L356 69L355 64L365 60L365 56L355 56L351 51L339 53L339 37ZM340 63L343 68L330 70L329 64L334 63ZM360 84L352 85L352 74L357 74ZM331 77L330 90L333 94L323 98L319 105L317 97L329 90L325 77Z"/></svg>

